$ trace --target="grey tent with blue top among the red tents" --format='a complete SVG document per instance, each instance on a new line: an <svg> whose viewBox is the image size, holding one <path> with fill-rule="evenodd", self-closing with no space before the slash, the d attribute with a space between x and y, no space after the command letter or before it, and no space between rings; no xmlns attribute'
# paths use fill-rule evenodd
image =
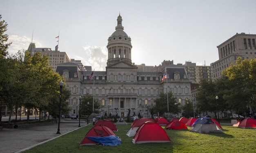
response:
<svg viewBox="0 0 256 153"><path fill-rule="evenodd" d="M223 133L220 127L211 118L198 118L192 125L191 132L198 133Z"/></svg>

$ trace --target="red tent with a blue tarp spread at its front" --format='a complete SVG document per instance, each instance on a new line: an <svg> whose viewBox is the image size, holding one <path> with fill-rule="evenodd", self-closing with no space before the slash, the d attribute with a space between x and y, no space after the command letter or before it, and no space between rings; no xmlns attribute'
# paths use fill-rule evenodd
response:
<svg viewBox="0 0 256 153"><path fill-rule="evenodd" d="M106 126L94 126L92 127L88 133L86 134L86 136L89 137L105 137L105 136L115 136L115 133L109 129ZM96 145L96 142L88 139L88 138L84 138L80 144L82 145Z"/></svg>

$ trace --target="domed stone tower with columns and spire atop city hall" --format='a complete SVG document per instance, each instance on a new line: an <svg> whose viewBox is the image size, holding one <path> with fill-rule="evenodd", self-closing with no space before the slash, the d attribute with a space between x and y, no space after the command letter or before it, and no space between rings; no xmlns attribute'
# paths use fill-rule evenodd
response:
<svg viewBox="0 0 256 153"><path fill-rule="evenodd" d="M120 61L131 65L131 38L125 33L122 26L122 17L117 17L116 31L108 39L107 66L112 66Z"/></svg>

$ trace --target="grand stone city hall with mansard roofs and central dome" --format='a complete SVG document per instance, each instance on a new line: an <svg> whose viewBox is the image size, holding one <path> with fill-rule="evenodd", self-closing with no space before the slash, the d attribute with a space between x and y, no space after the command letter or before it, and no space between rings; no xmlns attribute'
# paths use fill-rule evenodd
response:
<svg viewBox="0 0 256 153"><path fill-rule="evenodd" d="M106 71L94 72L93 80L89 77L92 71L80 70L76 63L60 63L56 72L63 75L66 87L71 92L69 99L69 114L76 114L79 96L94 94L100 102L100 111L108 114L127 116L135 112L144 117L149 115L148 108L155 105L154 99L160 92L173 92L177 103L185 105L185 99L191 100L191 89L187 72L184 66L165 64L159 72L138 71L132 63L131 38L125 33L122 26L122 17L117 18L116 31L107 39L108 60ZM166 61L168 62L168 61ZM168 83L162 83L163 74L167 72ZM79 108L79 107L78 107Z"/></svg>

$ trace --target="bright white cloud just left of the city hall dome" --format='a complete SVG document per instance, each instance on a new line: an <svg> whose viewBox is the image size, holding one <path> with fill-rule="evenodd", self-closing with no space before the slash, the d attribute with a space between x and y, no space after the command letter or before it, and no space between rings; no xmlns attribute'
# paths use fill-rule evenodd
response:
<svg viewBox="0 0 256 153"><path fill-rule="evenodd" d="M85 58L77 57L81 59L83 65L91 66L92 69L98 71L105 71L107 66L107 50L105 46L84 46ZM77 60L76 59L76 60ZM84 59L84 60L83 60Z"/></svg>

